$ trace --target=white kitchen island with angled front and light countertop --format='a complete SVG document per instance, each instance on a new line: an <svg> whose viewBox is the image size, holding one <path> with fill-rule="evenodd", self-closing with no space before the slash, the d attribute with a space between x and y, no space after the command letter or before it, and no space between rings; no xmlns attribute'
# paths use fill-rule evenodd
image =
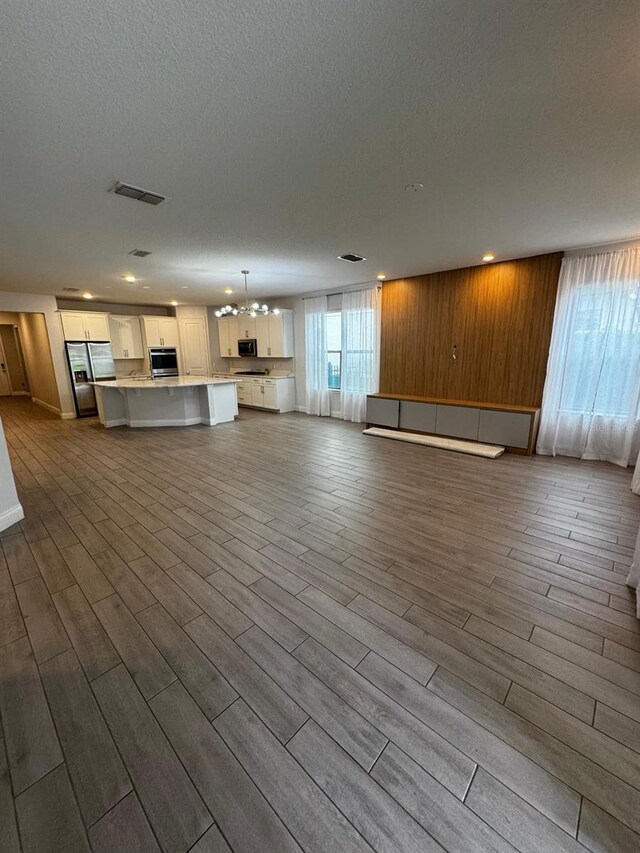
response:
<svg viewBox="0 0 640 853"><path fill-rule="evenodd" d="M92 383L105 427L192 426L232 421L236 382L210 376L131 377Z"/></svg>

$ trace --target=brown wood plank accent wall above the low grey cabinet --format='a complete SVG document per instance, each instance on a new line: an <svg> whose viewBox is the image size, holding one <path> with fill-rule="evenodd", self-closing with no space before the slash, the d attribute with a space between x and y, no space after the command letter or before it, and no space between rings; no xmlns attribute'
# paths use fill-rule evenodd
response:
<svg viewBox="0 0 640 853"><path fill-rule="evenodd" d="M557 252L385 282L380 391L540 406L561 260Z"/></svg>

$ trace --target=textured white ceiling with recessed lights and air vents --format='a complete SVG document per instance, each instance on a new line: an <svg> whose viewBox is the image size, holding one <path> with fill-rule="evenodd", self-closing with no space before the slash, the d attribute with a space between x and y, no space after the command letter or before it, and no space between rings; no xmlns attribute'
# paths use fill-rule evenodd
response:
<svg viewBox="0 0 640 853"><path fill-rule="evenodd" d="M244 267L268 297L640 231L636 0L5 0L2 20L3 290L217 304Z"/></svg>

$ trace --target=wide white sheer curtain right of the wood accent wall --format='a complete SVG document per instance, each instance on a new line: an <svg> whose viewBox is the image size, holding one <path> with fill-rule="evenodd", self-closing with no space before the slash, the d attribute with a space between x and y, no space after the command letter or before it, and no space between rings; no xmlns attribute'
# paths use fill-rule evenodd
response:
<svg viewBox="0 0 640 853"><path fill-rule="evenodd" d="M563 260L537 452L638 458L639 249Z"/></svg>

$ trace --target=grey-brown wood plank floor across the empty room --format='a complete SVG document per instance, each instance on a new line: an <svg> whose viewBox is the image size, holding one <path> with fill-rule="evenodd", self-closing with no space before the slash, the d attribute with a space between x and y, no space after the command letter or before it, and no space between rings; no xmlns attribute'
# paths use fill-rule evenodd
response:
<svg viewBox="0 0 640 853"><path fill-rule="evenodd" d="M640 850L629 472L0 416L3 853Z"/></svg>

